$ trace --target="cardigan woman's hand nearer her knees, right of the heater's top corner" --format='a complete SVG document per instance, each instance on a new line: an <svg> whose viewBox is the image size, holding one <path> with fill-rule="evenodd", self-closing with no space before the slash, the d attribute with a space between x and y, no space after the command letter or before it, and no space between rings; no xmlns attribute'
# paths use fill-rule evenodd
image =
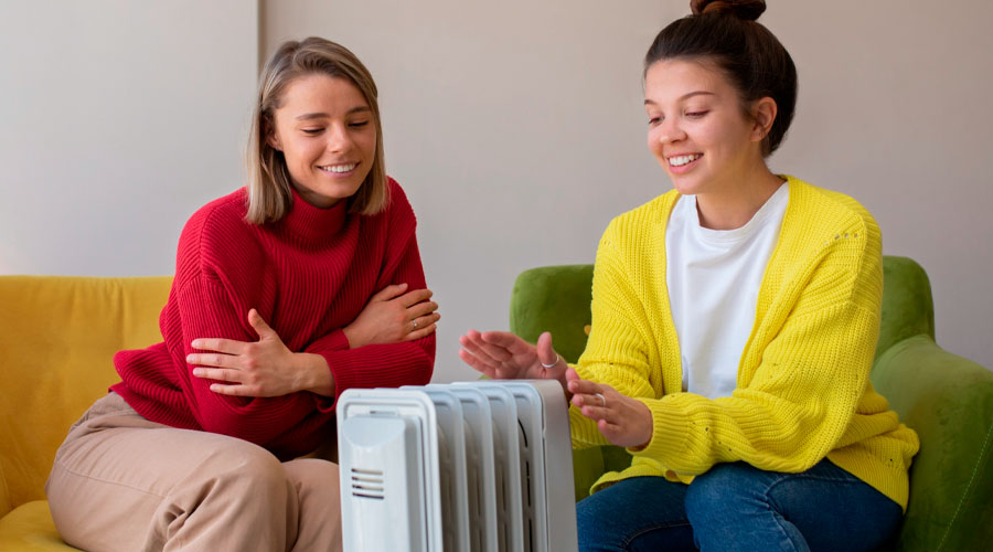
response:
<svg viewBox="0 0 993 552"><path fill-rule="evenodd" d="M583 380L572 368L566 379L573 393L572 403L584 416L597 423L597 429L607 440L633 448L643 448L652 440L652 411L644 403L605 383Z"/></svg>

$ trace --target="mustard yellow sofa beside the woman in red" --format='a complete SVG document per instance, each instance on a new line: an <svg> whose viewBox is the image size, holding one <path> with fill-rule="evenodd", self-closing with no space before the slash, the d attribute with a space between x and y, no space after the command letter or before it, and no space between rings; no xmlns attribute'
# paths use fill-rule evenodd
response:
<svg viewBox="0 0 993 552"><path fill-rule="evenodd" d="M171 282L0 276L0 551L75 550L45 500L55 450L119 381L111 355L161 341Z"/></svg>

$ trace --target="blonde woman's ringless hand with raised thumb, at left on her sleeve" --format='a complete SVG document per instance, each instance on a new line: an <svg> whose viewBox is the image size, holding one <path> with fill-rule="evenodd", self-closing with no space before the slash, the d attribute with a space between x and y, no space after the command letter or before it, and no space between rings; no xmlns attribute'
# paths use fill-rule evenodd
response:
<svg viewBox="0 0 993 552"><path fill-rule="evenodd" d="M221 382L211 383L211 391L236 396L281 396L297 391L334 394L334 379L323 357L290 351L255 309L248 311L248 323L258 341L193 340L194 349L214 351L186 355L186 363L194 365L193 375Z"/></svg>

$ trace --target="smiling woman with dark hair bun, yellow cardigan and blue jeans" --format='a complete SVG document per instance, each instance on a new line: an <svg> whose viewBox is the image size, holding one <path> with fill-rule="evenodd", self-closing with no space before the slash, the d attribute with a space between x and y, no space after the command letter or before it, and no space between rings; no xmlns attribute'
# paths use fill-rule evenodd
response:
<svg viewBox="0 0 993 552"><path fill-rule="evenodd" d="M632 454L577 507L581 550L873 550L907 506L917 435L868 380L879 229L769 170L797 97L761 0L691 2L644 62L649 149L674 190L600 241L586 350L567 365L470 330L493 378L557 379L574 446Z"/></svg>

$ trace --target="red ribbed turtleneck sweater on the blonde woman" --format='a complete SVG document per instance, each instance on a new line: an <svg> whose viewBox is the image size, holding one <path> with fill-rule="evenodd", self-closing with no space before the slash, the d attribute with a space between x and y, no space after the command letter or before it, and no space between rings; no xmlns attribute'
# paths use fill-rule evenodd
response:
<svg viewBox="0 0 993 552"><path fill-rule="evenodd" d="M425 287L414 211L392 179L389 188L389 206L372 216L348 214L344 201L318 209L293 192L284 219L254 225L244 219L244 189L203 206L180 236L175 278L159 317L164 341L118 352L114 364L122 381L111 390L152 422L243 438L280 458L309 453L333 428L337 396L220 395L186 364L196 338L257 340L250 308L291 351L327 359L337 394L427 383L434 335L350 349L341 331L384 287Z"/></svg>

